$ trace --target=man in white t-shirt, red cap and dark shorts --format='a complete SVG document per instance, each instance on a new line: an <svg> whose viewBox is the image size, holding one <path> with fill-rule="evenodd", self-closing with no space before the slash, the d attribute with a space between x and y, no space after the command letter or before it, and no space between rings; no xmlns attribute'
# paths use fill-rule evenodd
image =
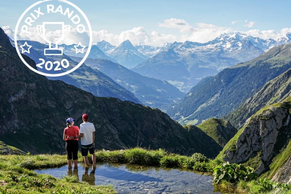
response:
<svg viewBox="0 0 291 194"><path fill-rule="evenodd" d="M92 154L93 165L96 165L96 156L94 152L95 127L92 123L88 122L89 117L87 114L83 114L82 119L84 122L80 125L80 135L77 137L70 136L69 138L74 139L81 137L81 153L84 157L86 167L89 167L88 151Z"/></svg>

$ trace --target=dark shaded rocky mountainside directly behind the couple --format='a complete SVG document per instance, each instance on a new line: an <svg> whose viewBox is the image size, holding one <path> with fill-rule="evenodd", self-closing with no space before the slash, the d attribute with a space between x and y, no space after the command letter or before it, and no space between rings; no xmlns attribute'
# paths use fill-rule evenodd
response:
<svg viewBox="0 0 291 194"><path fill-rule="evenodd" d="M29 64L34 61L23 56ZM95 97L32 72L0 29L0 141L32 153L64 152L65 119L89 114L96 148L142 146L215 157L220 148L203 131L183 128L160 110L112 97Z"/></svg>

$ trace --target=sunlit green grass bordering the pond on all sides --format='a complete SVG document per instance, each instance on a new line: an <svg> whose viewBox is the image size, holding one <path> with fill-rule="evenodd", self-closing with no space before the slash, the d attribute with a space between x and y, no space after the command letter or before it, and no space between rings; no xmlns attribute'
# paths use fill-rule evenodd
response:
<svg viewBox="0 0 291 194"><path fill-rule="evenodd" d="M291 144L286 149L290 147ZM88 155L88 158L91 160L91 155ZM141 147L115 151L96 150L96 159L97 162L109 162L116 165L123 163L156 166L157 168L177 167L194 170L194 172L207 172L210 175L214 167L223 163L219 158L210 160L199 153L188 157L168 153L163 149L149 150ZM82 161L83 158L79 153L79 162ZM32 171L33 169L59 167L66 165L66 163L66 156L56 154L0 156L0 194L117 194L111 185L91 186L86 182L80 182L79 178L75 176L64 176L59 179L49 175L36 174ZM270 190L270 185L275 185L277 190L281 192L279 194L290 192L291 188L288 185L274 183L270 180L262 182L259 180L239 181L235 184L223 181L215 187L223 194L234 192L237 194L271 194L275 190Z"/></svg>

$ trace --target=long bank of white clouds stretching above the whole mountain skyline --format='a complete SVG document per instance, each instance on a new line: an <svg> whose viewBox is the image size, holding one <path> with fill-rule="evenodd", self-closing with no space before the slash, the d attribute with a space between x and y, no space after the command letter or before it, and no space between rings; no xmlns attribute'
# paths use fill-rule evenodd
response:
<svg viewBox="0 0 291 194"><path fill-rule="evenodd" d="M246 20L247 22L247 20ZM253 21L251 21L253 22ZM247 23L252 24L251 22ZM255 22L254 22L255 23ZM93 31L93 44L96 44L99 41L105 40L112 45L118 46L125 40L129 40L133 45L151 45L151 46L162 46L163 43L166 42L185 42L185 41L193 41L205 43L210 40L213 40L220 34L232 34L236 32L232 28L219 27L213 24L206 23L196 23L195 27L190 26L184 19L166 19L164 23L159 23L160 27L166 28L177 28L180 32L183 32L180 36L176 36L173 34L161 34L159 32L153 31L151 33L146 33L144 27L135 27L131 30L123 31L120 34L113 34L106 30L101 31ZM12 39L14 39L14 30L9 26L2 27L4 32L8 34ZM30 33L23 33L17 35L18 39L22 40L34 40L41 43L45 43L45 41L38 35L36 28L30 28ZM291 32L291 28L284 28L280 32L276 32L274 30L249 30L245 33L247 35L253 37L259 37L262 39L272 38L277 40L281 36L284 36L286 33ZM55 40L58 38L58 33L49 33L49 38ZM88 32L84 32L81 35L76 32L76 29L71 28L69 35L63 41L65 44L78 44L81 42L88 42L89 35Z"/></svg>

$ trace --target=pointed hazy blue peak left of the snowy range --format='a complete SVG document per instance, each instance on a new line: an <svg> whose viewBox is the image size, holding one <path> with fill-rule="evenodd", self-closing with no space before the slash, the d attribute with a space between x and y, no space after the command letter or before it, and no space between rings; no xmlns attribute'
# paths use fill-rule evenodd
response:
<svg viewBox="0 0 291 194"><path fill-rule="evenodd" d="M128 69L135 67L149 58L133 47L129 40L124 41L113 51L109 52L108 56Z"/></svg>

